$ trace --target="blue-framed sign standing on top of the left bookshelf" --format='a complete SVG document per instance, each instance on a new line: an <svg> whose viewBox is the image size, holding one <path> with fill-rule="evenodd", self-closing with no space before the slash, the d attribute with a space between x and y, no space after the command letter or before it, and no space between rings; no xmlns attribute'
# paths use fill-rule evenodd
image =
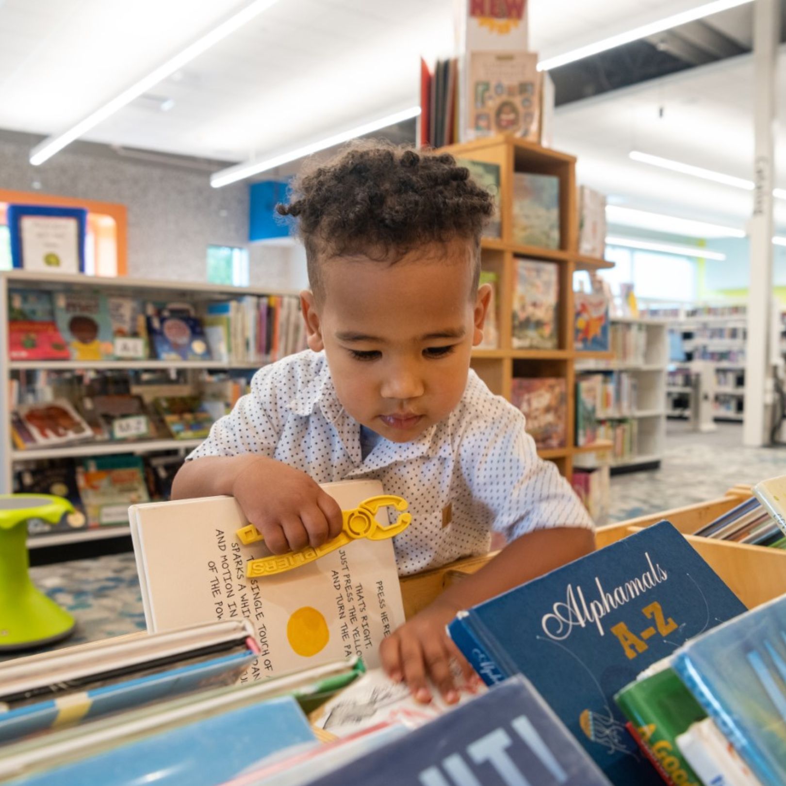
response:
<svg viewBox="0 0 786 786"><path fill-rule="evenodd" d="M9 204L11 259L39 273L81 273L85 268L87 211L38 204Z"/></svg>

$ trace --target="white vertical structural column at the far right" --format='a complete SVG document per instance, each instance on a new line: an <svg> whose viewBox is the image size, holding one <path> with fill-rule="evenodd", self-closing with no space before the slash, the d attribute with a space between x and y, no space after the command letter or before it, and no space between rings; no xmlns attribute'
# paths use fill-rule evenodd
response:
<svg viewBox="0 0 786 786"><path fill-rule="evenodd" d="M751 284L747 302L743 443L760 446L769 443L773 408L773 158L780 3L755 0L753 9L755 191L748 225Z"/></svg>

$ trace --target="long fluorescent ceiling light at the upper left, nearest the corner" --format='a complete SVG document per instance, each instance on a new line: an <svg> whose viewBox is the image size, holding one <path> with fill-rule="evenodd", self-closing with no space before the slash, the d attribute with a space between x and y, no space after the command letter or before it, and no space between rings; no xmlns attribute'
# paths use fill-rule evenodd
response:
<svg viewBox="0 0 786 786"><path fill-rule="evenodd" d="M254 0L254 2L249 3L244 9L218 24L200 39L196 39L196 41L186 46L180 53L171 57L171 59L161 64L137 83L123 90L121 94L112 98L112 101L109 101L91 115L80 120L75 126L72 126L62 134L47 137L39 142L39 144L35 145L30 151L30 163L36 167L44 163L44 161L50 159L56 152L60 152L66 145L70 145L72 141L78 139L83 134L86 134L91 128L97 126L98 123L102 123L110 115L113 115L119 109L130 104L131 101L134 101L134 98L138 98L141 94L146 93L151 87L157 85L163 79L167 79L167 76L171 76L185 64L193 61L195 57L199 57L200 54L209 50L211 46L225 39L227 35L231 35L238 28L250 22L254 17L257 17L260 13L270 8L274 2L277 2L277 0Z"/></svg>

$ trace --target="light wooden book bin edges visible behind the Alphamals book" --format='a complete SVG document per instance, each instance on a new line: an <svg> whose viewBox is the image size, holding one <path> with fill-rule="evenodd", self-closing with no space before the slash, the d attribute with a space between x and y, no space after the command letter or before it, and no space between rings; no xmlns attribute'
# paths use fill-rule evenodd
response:
<svg viewBox="0 0 786 786"><path fill-rule="evenodd" d="M665 519L685 535L693 548L747 608L755 608L786 594L786 551L713 538L698 538L691 534L750 496L750 487L736 486L717 499L599 527L596 534L597 548L602 549ZM479 571L493 556L494 554L471 557L434 571L402 578L404 612L408 617L417 614L452 582Z"/></svg>

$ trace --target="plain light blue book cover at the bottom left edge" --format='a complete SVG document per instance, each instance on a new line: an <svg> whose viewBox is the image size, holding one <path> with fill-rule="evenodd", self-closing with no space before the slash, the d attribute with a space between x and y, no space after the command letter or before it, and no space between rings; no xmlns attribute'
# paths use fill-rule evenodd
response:
<svg viewBox="0 0 786 786"><path fill-rule="evenodd" d="M314 740L303 711L287 696L186 722L10 783L218 786L270 754Z"/></svg>

